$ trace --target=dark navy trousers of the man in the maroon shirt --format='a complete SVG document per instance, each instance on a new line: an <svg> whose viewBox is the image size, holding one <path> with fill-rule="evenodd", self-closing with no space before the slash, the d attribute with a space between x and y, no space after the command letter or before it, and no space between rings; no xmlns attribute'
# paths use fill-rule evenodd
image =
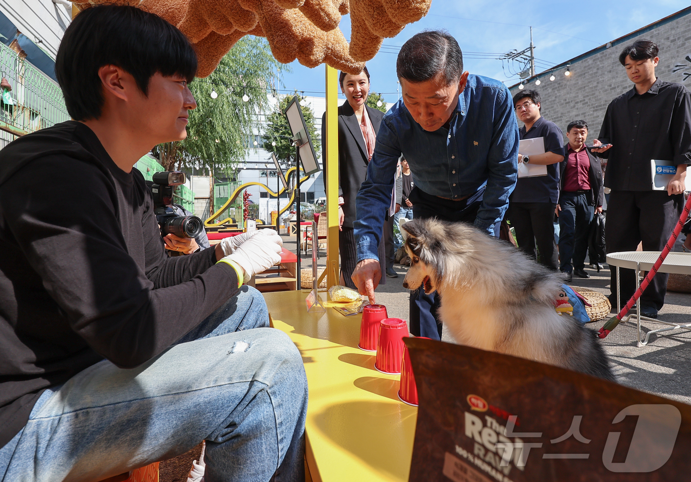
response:
<svg viewBox="0 0 691 482"><path fill-rule="evenodd" d="M595 212L585 192L563 191L559 198L559 260L560 269L571 273L585 267L590 222Z"/></svg>

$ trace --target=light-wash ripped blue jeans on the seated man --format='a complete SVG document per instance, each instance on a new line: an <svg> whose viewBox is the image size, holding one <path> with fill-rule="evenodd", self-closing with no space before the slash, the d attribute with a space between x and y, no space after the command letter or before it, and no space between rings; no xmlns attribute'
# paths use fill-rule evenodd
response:
<svg viewBox="0 0 691 482"><path fill-rule="evenodd" d="M207 482L304 481L307 380L298 349L243 287L134 369L108 360L46 390L0 448L0 480L97 481L207 441Z"/></svg>

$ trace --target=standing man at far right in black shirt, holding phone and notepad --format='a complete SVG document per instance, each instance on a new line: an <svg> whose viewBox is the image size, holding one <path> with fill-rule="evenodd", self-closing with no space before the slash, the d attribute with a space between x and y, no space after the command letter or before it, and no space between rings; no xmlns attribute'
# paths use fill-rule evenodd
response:
<svg viewBox="0 0 691 482"><path fill-rule="evenodd" d="M593 149L608 159L605 187L612 189L607 204L605 242L608 253L662 251L683 209L686 165L691 161L691 94L681 84L655 76L658 47L638 40L627 46L619 61L634 83L627 93L607 106L603 126ZM650 160L676 166L666 191L652 189ZM610 267L616 309L616 269ZM657 273L641 296L641 314L657 318L665 302L668 275ZM634 272L621 269L621 304L635 290Z"/></svg>

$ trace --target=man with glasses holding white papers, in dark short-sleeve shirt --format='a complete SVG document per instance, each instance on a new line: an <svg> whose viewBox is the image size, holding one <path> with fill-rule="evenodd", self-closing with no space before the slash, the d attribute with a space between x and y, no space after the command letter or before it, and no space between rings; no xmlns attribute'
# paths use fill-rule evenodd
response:
<svg viewBox="0 0 691 482"><path fill-rule="evenodd" d="M564 159L564 135L560 128L540 115L540 94L522 90L513 97L516 117L524 123L520 139L545 141L545 153L518 155L518 162L547 166L547 175L519 177L509 202L507 218L515 229L516 242L528 256L558 271L554 243L554 210L559 201L558 163ZM538 253L535 247L538 247Z"/></svg>

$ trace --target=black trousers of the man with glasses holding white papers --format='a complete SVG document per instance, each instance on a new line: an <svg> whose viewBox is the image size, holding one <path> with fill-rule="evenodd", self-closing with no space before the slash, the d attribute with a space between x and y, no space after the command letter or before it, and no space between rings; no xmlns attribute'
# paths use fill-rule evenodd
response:
<svg viewBox="0 0 691 482"><path fill-rule="evenodd" d="M554 243L554 209L551 202L509 202L506 218L515 230L518 247L533 260L554 271L559 270L558 253Z"/></svg>

